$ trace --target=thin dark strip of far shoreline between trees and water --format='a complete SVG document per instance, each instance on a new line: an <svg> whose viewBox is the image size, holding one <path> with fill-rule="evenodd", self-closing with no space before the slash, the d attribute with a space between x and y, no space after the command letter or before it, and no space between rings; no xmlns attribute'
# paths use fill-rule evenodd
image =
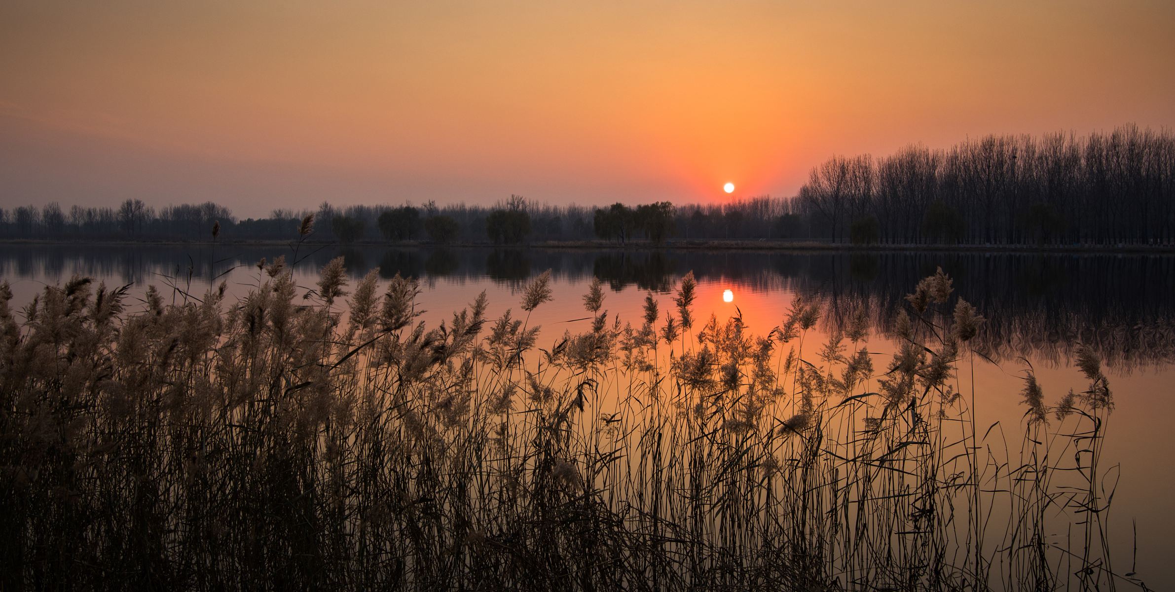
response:
<svg viewBox="0 0 1175 592"><path fill-rule="evenodd" d="M289 245L296 241L270 241L270 240L247 240L247 241L65 241L65 240L36 240L36 238L0 238L0 244L28 244L28 245L193 245L193 247L270 247ZM337 241L304 241L303 247L384 247L384 248L448 248L448 249L593 249L593 250L757 250L757 251L845 251L845 253L874 253L874 251L980 251L980 253L1120 253L1120 254L1143 254L1163 255L1175 254L1175 244L1123 244L1123 245L1097 245L1097 244L1073 244L1073 245L1045 245L1035 247L1028 244L844 244L825 243L817 241L669 241L665 244L654 244L647 241L633 241L618 244L612 241L543 241L525 244L492 244L482 242L461 242L439 244L430 241L356 241L349 244Z"/></svg>

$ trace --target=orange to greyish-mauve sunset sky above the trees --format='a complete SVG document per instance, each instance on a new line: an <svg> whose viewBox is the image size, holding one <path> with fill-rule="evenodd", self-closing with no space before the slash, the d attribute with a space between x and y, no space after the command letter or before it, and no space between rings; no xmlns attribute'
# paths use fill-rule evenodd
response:
<svg viewBox="0 0 1175 592"><path fill-rule="evenodd" d="M713 201L1175 127L1175 2L5 0L0 207Z"/></svg>

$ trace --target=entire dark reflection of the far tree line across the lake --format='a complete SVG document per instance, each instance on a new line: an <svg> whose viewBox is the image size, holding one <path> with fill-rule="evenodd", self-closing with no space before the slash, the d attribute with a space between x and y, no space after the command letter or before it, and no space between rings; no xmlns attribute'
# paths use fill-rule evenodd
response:
<svg viewBox="0 0 1175 592"><path fill-rule="evenodd" d="M60 282L76 273L137 282L190 273L200 283L233 265L280 255L291 260L293 253L283 247L13 245L0 256L0 277ZM882 332L892 330L909 287L941 265L954 278L956 294L988 318L981 339L993 358L1032 354L1060 362L1082 342L1115 368L1175 361L1175 257L1169 256L441 248L328 248L301 255L297 269L304 273L317 273L343 255L352 276L380 265L384 277L489 277L515 285L551 269L556 277L595 275L616 290L665 291L693 270L699 281L820 294L832 327L867 303Z"/></svg>

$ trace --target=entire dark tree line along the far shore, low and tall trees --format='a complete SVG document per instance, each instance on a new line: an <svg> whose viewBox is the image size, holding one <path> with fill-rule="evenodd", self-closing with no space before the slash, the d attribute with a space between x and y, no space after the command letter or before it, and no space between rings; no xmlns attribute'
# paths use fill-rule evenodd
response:
<svg viewBox="0 0 1175 592"><path fill-rule="evenodd" d="M1137 126L988 135L946 149L834 156L795 196L674 206L427 202L278 208L239 220L220 204L155 209L59 203L0 208L6 237L286 240L314 215L317 240L519 244L544 241L781 240L857 244L1175 244L1175 135Z"/></svg>

